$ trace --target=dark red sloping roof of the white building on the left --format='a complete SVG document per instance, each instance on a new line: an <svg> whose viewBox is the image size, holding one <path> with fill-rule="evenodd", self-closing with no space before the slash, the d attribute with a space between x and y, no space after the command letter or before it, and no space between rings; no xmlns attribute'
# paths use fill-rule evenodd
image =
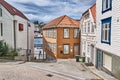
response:
<svg viewBox="0 0 120 80"><path fill-rule="evenodd" d="M28 20L28 18L22 12L20 12L18 9L16 9L12 5L8 4L6 1L0 0L0 4L3 7L5 7L11 15L18 15L18 16Z"/></svg>

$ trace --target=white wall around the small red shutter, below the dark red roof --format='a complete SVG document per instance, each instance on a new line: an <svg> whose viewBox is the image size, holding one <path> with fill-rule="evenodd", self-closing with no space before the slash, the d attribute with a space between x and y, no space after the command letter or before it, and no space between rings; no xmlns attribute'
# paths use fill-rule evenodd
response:
<svg viewBox="0 0 120 80"><path fill-rule="evenodd" d="M4 40L10 48L14 49L14 25L13 21L16 21L15 31L16 31L16 49L22 49L23 54L26 54L25 50L27 49L27 27L28 23L30 23L30 27L28 28L29 35L29 49L31 49L32 53L34 52L34 25L17 15L11 15L6 8L0 5L2 8L2 17L0 17L0 23L3 23L3 36L0 35L0 40ZM19 31L19 23L24 25L24 30Z"/></svg>

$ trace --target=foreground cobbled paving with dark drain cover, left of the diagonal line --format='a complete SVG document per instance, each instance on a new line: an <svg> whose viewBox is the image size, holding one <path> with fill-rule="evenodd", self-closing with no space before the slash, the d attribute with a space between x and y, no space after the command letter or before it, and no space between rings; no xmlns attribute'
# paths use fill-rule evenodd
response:
<svg viewBox="0 0 120 80"><path fill-rule="evenodd" d="M0 64L0 80L68 80L50 72L39 71L34 68L19 65Z"/></svg>

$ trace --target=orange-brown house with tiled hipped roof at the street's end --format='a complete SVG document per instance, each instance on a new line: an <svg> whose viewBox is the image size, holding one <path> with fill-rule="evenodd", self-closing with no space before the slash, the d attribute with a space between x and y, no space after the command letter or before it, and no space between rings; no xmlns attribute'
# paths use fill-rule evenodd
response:
<svg viewBox="0 0 120 80"><path fill-rule="evenodd" d="M80 55L79 21L66 15L43 27L44 51L52 59L74 58Z"/></svg>

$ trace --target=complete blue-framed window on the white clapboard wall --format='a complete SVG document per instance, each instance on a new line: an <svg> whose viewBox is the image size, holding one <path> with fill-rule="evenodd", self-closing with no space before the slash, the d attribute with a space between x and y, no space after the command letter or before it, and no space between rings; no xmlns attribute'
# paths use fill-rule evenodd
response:
<svg viewBox="0 0 120 80"><path fill-rule="evenodd" d="M102 20L101 42L110 44L111 38L111 17Z"/></svg>

